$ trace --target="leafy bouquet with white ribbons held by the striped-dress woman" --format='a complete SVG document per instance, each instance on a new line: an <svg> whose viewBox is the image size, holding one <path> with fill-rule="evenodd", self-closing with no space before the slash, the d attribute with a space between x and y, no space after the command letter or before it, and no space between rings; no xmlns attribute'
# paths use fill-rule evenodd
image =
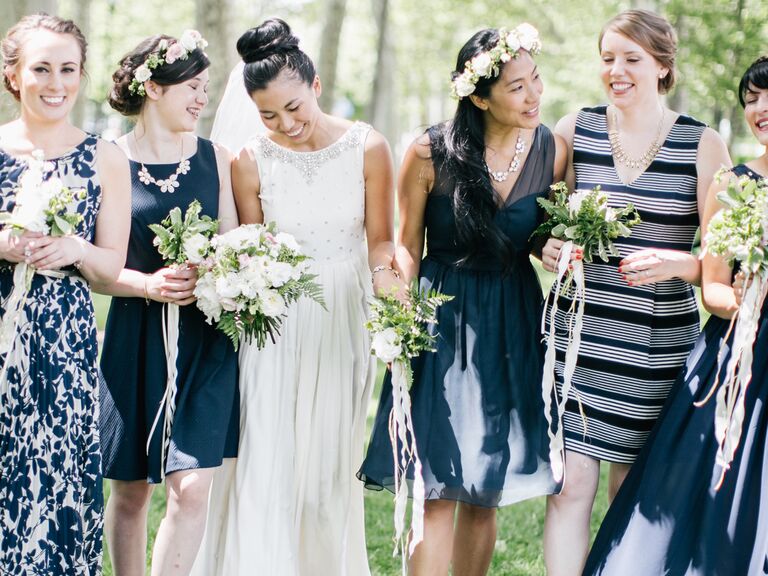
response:
<svg viewBox="0 0 768 576"><path fill-rule="evenodd" d="M586 304L584 266L581 260L572 264L573 271L569 272L571 252L574 245L584 250L584 261L592 262L599 257L608 262L609 256L618 256L619 251L613 243L620 236L629 236L631 228L640 223L640 216L632 204L621 209L608 206L608 195L597 186L592 190L568 192L565 182L551 186L551 199L539 198L537 201L547 212L549 218L533 232L534 236L553 236L565 240L557 258L557 278L552 307L549 311L549 332L547 333L547 352L544 357L544 377L542 394L544 398L544 414L547 418L552 473L557 482L563 479L565 472L565 443L563 439L562 418L565 404L572 389L573 373L581 345L581 326ZM572 306L576 306L576 317L568 326L568 346L565 353L565 368L563 369L563 389L561 398L555 398L557 405L557 429L552 429L552 395L555 392L555 314L557 313L558 296L574 285ZM542 317L542 333L546 329L546 309ZM573 389L576 392L575 389ZM578 398L578 394L577 394ZM584 419L582 415L582 420ZM585 422L586 426L586 422Z"/></svg>

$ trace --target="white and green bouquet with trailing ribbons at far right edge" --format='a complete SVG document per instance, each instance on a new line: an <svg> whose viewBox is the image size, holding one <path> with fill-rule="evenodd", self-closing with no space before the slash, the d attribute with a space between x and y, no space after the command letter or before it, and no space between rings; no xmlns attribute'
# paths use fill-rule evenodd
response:
<svg viewBox="0 0 768 576"><path fill-rule="evenodd" d="M723 176L720 171L716 178ZM746 286L741 305L731 319L728 336L718 354L718 370L712 391L699 402L706 402L717 388L723 358L728 349L731 357L725 370L723 385L717 390L715 405L716 456L722 484L741 440L744 424L744 397L752 379L753 346L760 311L768 292L768 183L747 176L731 174L724 191L717 195L724 208L712 217L705 237L703 254L724 258L731 266L738 263Z"/></svg>

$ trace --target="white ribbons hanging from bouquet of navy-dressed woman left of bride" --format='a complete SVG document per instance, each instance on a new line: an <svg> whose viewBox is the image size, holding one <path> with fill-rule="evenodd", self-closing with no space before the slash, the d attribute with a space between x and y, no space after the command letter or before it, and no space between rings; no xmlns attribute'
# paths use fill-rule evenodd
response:
<svg viewBox="0 0 768 576"><path fill-rule="evenodd" d="M167 321L166 315L168 316ZM176 394L178 392L178 388L176 387L176 376L178 374L176 360L179 357L179 305L170 302L164 304L162 319L167 378L165 382L165 393L160 399L160 406L157 409L155 420L152 423L152 428L147 437L147 454L149 454L149 446L152 444L152 437L154 436L155 428L157 428L157 424L160 421L160 416L164 414L163 437L160 445L160 478L165 478L165 458L171 443L173 415L176 412Z"/></svg>

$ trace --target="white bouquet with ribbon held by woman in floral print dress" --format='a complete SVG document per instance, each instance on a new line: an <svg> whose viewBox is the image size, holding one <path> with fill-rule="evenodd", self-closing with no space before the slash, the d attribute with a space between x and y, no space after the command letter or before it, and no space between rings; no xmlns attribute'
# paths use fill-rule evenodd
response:
<svg viewBox="0 0 768 576"><path fill-rule="evenodd" d="M32 159L15 190L15 206L11 212L0 213L0 224L19 234L24 230L50 236L74 234L83 220L75 204L85 199L86 193L64 186L59 178L50 175L53 169L53 163L44 160L42 150L32 152ZM0 321L0 354L6 354L13 346L34 274L34 267L25 262L14 267L13 289L2 305L5 314ZM2 374L4 376L4 369Z"/></svg>

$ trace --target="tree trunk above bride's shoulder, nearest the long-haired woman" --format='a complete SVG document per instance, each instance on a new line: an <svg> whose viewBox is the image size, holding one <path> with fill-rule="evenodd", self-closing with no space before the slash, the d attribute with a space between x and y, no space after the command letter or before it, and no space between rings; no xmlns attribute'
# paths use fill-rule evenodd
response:
<svg viewBox="0 0 768 576"><path fill-rule="evenodd" d="M398 126L395 117L395 54L392 48L389 0L373 0L379 39L376 46L376 67L373 89L366 116L391 143L397 142Z"/></svg>

